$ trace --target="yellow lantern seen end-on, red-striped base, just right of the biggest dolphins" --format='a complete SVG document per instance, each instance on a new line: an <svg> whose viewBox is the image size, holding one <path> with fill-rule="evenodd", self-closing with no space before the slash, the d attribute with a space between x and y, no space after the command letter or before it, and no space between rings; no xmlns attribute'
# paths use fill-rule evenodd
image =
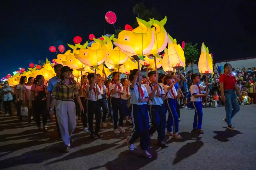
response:
<svg viewBox="0 0 256 170"><path fill-rule="evenodd" d="M170 62L170 67L180 70L185 68L186 63L185 63L185 56L184 56L184 51L180 47L180 45L177 44L177 40L173 39L169 34L168 34L168 55L169 55L169 62Z"/></svg>

